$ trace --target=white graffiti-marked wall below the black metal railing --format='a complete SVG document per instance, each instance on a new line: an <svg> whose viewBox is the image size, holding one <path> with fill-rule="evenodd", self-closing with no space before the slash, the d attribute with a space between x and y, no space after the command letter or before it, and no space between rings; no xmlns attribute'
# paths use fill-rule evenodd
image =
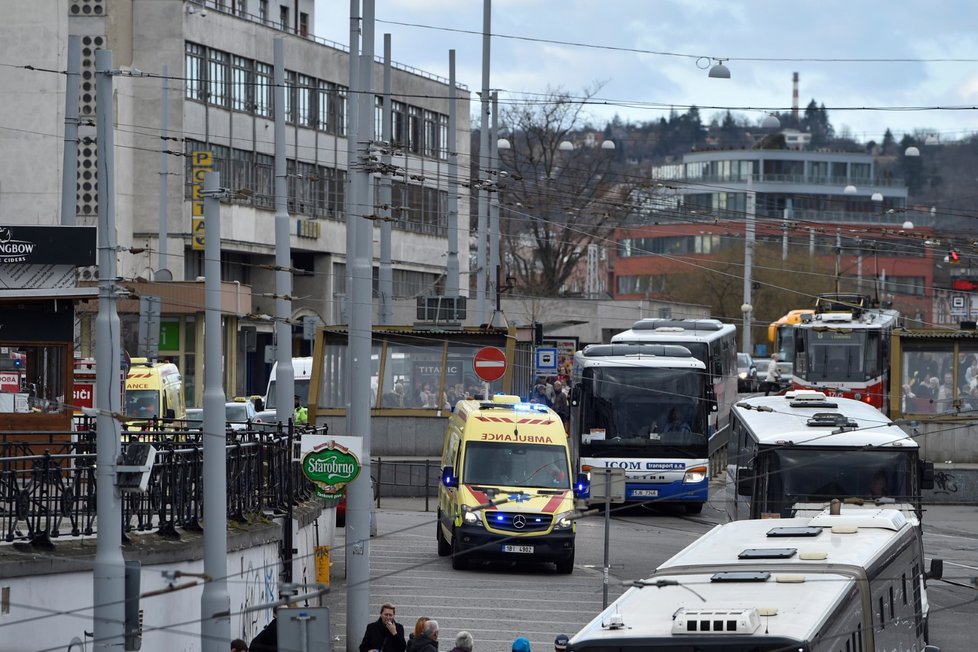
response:
<svg viewBox="0 0 978 652"><path fill-rule="evenodd" d="M293 581L315 582L315 546L330 545L334 535L333 510L308 506L297 509L292 522L294 547ZM251 640L272 617L270 609L244 613L256 605L278 599L279 545L282 519L257 525L235 526L228 534L227 588L231 598L231 638ZM135 537L125 546L126 559L142 562L141 591L146 593L168 586L163 571L202 573L203 540L184 533L179 542L156 534ZM92 561L95 539L59 541L54 553L20 552L11 546L0 548L0 589L9 589L10 610L0 614L5 652L41 649L68 649L72 638L91 640L94 600ZM341 554L341 553L339 553ZM179 578L177 585L193 581ZM200 586L144 598L142 650L155 652L196 652L200 650ZM314 605L318 606L318 605ZM56 616L52 614L57 614ZM65 615L68 614L68 615ZM121 649L121 648L120 648Z"/></svg>

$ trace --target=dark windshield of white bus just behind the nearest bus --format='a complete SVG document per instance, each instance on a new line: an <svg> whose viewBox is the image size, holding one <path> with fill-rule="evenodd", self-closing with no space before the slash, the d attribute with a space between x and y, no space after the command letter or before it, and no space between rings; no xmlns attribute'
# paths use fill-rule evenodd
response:
<svg viewBox="0 0 978 652"><path fill-rule="evenodd" d="M767 478L762 511L791 516L796 503L833 498L892 498L916 503L911 470L916 451L775 448L760 455L758 471Z"/></svg>

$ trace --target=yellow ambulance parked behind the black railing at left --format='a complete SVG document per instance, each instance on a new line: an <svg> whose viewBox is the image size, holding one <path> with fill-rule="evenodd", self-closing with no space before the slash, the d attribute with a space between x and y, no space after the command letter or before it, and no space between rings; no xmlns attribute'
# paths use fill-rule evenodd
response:
<svg viewBox="0 0 978 652"><path fill-rule="evenodd" d="M183 379L177 366L169 362L154 364L146 358L133 358L126 375L123 412L136 424L152 419L186 419Z"/></svg>

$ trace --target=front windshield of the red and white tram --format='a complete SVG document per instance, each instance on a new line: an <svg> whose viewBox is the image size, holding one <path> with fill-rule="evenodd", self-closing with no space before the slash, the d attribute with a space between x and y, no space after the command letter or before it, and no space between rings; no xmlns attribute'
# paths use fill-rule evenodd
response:
<svg viewBox="0 0 978 652"><path fill-rule="evenodd" d="M875 346L867 331L801 329L804 348L798 348L795 373L810 382L860 382L878 375ZM866 352L866 353L864 353Z"/></svg>

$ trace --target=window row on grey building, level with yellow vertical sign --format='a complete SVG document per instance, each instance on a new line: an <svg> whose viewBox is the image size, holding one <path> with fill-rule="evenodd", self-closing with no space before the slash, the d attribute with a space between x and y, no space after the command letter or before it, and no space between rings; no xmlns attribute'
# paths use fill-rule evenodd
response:
<svg viewBox="0 0 978 652"><path fill-rule="evenodd" d="M251 203L257 208L275 207L275 157L224 145L208 145L200 141L187 141L187 185L185 197L192 192L190 154L210 151L214 157L214 170L221 173L221 185L234 190L248 189L247 197L239 201ZM288 210L294 215L342 219L346 202L346 170L296 161L287 161ZM374 205L379 188L374 184ZM391 184L391 217L395 228L425 235L447 234L448 193L403 181Z"/></svg>

